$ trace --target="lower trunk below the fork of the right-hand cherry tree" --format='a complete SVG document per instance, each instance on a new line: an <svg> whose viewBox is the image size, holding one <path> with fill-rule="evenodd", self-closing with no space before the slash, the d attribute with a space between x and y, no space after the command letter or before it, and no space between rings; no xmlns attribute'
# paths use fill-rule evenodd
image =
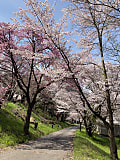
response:
<svg viewBox="0 0 120 160"><path fill-rule="evenodd" d="M109 139L110 139L110 157L113 160L118 160L117 146L116 146L116 143L115 143L114 127L113 126L111 126L108 129L108 135L109 135Z"/></svg>

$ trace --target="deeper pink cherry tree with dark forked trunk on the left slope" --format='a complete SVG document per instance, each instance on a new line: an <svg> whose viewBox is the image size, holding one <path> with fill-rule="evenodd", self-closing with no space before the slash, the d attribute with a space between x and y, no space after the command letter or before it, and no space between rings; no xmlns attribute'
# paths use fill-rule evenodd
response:
<svg viewBox="0 0 120 160"><path fill-rule="evenodd" d="M54 68L54 59L59 52L49 43L40 31L32 28L16 28L1 24L1 70L9 68L28 103L25 134L29 133L30 116L37 95L49 86L53 79L48 76L47 68ZM8 69L7 69L8 71ZM6 72L7 74L7 72Z"/></svg>

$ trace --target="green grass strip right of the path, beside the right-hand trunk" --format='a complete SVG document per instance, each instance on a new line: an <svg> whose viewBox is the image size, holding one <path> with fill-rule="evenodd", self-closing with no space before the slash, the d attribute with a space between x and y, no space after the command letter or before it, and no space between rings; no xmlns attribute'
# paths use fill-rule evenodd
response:
<svg viewBox="0 0 120 160"><path fill-rule="evenodd" d="M120 157L120 143L116 138L118 156ZM111 160L109 151L109 138L94 134L93 138L85 131L77 130L74 138L74 160Z"/></svg>

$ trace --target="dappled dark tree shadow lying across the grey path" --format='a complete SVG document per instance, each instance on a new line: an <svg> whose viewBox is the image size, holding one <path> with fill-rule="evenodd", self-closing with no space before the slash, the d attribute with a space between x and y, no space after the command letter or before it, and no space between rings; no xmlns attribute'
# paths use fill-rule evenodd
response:
<svg viewBox="0 0 120 160"><path fill-rule="evenodd" d="M72 150L73 147L73 134L50 134L42 138L30 141L15 149L22 150L36 150L36 149L48 149L48 150Z"/></svg>

